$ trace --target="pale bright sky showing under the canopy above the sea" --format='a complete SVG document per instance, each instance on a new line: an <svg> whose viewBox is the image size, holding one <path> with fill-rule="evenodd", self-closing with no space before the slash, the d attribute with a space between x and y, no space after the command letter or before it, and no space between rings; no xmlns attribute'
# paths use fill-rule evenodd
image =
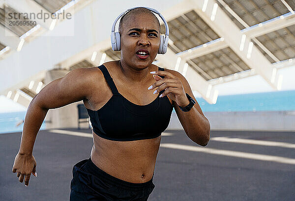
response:
<svg viewBox="0 0 295 201"><path fill-rule="evenodd" d="M279 69L278 73L283 75L283 83L281 91L295 90L295 66ZM253 75L231 82L215 85L219 96L235 95L235 94L249 94L275 91L268 83L260 76ZM201 95L194 91L195 98ZM0 96L0 113L26 111L27 108L7 99L5 96Z"/></svg>

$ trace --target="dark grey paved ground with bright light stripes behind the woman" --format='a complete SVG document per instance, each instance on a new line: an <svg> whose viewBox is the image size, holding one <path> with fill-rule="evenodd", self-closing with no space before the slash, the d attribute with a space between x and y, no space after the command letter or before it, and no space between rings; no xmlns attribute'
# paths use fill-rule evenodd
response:
<svg viewBox="0 0 295 201"><path fill-rule="evenodd" d="M162 136L149 201L295 200L295 132L211 131L206 147L184 131L164 133L171 135ZM20 139L20 132L0 134L0 200L68 201L72 167L89 158L92 138L39 131L38 177L28 187L11 172Z"/></svg>

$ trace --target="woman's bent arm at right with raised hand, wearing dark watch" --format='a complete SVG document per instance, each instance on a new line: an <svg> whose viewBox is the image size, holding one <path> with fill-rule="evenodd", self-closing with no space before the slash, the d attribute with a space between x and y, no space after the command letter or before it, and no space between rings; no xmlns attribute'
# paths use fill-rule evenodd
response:
<svg viewBox="0 0 295 201"><path fill-rule="evenodd" d="M152 75L164 75L164 78L154 76L156 82L152 85L153 87L151 89L158 87L156 93L165 89L161 98L167 95L173 100L177 117L186 135L198 145L205 147L210 139L210 123L204 116L185 77L177 71L169 69L165 69L165 71L156 71L156 73ZM178 107L178 105L184 107L189 104L185 93L196 101L196 104L188 112L183 112Z"/></svg>

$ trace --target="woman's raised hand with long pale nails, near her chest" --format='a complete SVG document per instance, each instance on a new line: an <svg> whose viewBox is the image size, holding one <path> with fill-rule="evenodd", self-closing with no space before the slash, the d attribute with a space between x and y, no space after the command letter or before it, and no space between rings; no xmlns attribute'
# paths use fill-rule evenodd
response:
<svg viewBox="0 0 295 201"><path fill-rule="evenodd" d="M158 76L164 75L164 78ZM185 91L183 89L182 83L177 76L167 72L167 71L155 71L153 73L153 78L156 80L155 83L151 85L151 89L158 87L156 93L159 93L162 90L165 90L162 93L161 98L164 96L168 96L171 100L175 101L176 104L180 107L185 107L189 104L189 100L185 95Z"/></svg>

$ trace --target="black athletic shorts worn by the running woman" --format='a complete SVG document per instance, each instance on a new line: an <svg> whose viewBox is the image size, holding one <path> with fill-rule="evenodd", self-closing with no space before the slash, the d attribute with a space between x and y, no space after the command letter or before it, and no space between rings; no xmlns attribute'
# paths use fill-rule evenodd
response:
<svg viewBox="0 0 295 201"><path fill-rule="evenodd" d="M73 167L70 201L147 201L155 185L131 183L99 169L91 158Z"/></svg>

